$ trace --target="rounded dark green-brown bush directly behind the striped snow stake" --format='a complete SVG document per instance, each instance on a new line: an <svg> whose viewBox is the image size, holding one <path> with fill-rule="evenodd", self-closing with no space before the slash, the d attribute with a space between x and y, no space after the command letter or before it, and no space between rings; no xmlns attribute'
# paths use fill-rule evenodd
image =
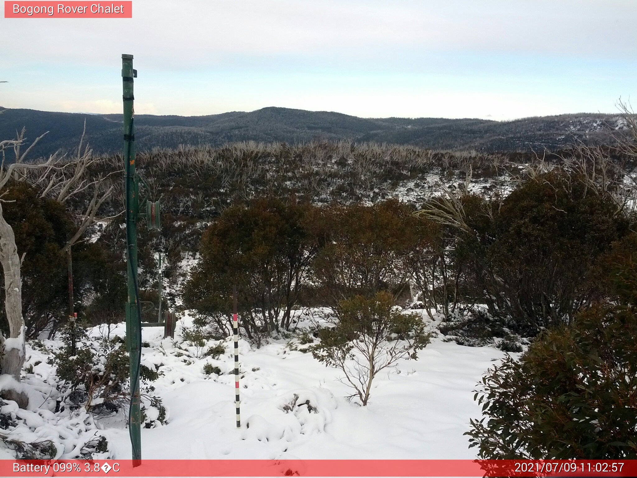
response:
<svg viewBox="0 0 637 478"><path fill-rule="evenodd" d="M233 284L241 325L260 344L290 326L306 270L317 249L305 224L313 208L276 198L224 210L201 241L201 263L185 301L221 331L229 328Z"/></svg>

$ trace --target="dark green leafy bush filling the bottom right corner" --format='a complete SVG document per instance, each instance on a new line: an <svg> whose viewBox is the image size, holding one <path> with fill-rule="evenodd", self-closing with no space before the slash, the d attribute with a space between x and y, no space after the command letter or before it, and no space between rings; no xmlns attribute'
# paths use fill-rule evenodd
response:
<svg viewBox="0 0 637 478"><path fill-rule="evenodd" d="M619 303L582 310L483 378L486 417L467 432L482 458L637 458L637 249L624 257Z"/></svg>

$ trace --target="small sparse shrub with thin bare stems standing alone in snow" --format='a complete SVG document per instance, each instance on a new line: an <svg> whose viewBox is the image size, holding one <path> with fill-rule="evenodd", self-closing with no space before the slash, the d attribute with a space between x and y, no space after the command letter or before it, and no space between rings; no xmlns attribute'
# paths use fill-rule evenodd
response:
<svg viewBox="0 0 637 478"><path fill-rule="evenodd" d="M397 310L387 292L342 301L339 310L338 324L319 330L320 344L311 351L345 374L345 384L354 389L350 398L357 396L365 406L376 375L399 359L417 358L429 335L420 317Z"/></svg>

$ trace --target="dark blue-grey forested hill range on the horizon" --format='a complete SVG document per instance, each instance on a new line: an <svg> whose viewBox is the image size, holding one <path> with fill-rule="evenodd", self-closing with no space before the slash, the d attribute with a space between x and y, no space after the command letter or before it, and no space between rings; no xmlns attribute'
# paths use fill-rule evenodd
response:
<svg viewBox="0 0 637 478"><path fill-rule="evenodd" d="M3 108L0 107L0 111ZM27 128L30 140L45 131L47 137L34 148L34 156L76 147L86 120L91 147L99 153L122 148L122 115L54 113L9 109L0 114L0 139L15 137ZM138 150L174 148L180 144L233 141L297 143L310 140L355 140L398 143L434 149L475 149L485 152L562 147L574 140L604 141L605 129L622 126L619 115L581 113L533 117L513 121L442 118L358 118L333 112L289 108L262 108L207 116L135 117Z"/></svg>

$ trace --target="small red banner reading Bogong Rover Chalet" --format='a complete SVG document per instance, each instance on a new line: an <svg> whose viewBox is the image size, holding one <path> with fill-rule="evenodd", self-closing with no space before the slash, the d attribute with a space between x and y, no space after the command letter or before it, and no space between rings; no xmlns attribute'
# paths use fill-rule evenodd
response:
<svg viewBox="0 0 637 478"><path fill-rule="evenodd" d="M4 18L132 18L132 1L4 1Z"/></svg>

